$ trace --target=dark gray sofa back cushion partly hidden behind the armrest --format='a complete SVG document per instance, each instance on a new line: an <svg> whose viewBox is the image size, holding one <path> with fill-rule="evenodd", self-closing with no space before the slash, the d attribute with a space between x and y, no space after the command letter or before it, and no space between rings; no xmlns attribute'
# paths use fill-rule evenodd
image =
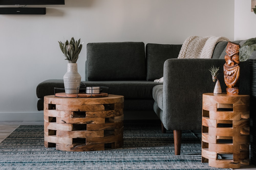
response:
<svg viewBox="0 0 256 170"><path fill-rule="evenodd" d="M164 62L170 58L178 58L182 45L174 44L147 44L146 64L147 81L160 79L164 74Z"/></svg>

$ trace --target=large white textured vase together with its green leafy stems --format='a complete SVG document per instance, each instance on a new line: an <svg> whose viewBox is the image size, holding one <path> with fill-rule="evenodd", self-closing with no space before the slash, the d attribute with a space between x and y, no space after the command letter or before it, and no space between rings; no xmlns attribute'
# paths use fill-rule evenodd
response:
<svg viewBox="0 0 256 170"><path fill-rule="evenodd" d="M68 69L67 73L63 76L64 87L66 94L76 94L78 93L78 86L80 86L81 76L77 71L77 59L79 58L79 53L82 49L82 44L80 44L80 39L78 41L74 40L74 37L71 38L70 42L68 40L66 43L58 41L60 49L64 56L65 60L68 60Z"/></svg>

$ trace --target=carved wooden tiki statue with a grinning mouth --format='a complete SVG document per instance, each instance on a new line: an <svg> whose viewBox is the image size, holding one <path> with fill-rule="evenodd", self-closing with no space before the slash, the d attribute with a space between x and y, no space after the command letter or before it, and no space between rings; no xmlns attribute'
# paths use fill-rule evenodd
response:
<svg viewBox="0 0 256 170"><path fill-rule="evenodd" d="M227 94L238 95L239 93L239 48L240 45L228 42L224 64L224 80L227 85L226 91Z"/></svg>

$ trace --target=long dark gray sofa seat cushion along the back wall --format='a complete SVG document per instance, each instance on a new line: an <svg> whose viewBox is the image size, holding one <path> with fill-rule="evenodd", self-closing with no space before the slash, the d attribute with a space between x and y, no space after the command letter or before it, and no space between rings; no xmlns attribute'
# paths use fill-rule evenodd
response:
<svg viewBox="0 0 256 170"><path fill-rule="evenodd" d="M153 81L83 81L83 83L90 86L109 87L109 94L122 95L125 99L153 99L153 87L158 84L163 84ZM46 80L38 84L36 95L38 98L54 95L54 87L63 86L63 80Z"/></svg>

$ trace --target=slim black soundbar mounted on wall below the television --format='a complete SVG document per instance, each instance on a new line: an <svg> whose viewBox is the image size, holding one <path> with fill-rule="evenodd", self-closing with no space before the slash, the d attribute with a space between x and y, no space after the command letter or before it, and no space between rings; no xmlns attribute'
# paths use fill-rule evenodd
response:
<svg viewBox="0 0 256 170"><path fill-rule="evenodd" d="M0 8L0 14L45 15L46 8L2 7Z"/></svg>

